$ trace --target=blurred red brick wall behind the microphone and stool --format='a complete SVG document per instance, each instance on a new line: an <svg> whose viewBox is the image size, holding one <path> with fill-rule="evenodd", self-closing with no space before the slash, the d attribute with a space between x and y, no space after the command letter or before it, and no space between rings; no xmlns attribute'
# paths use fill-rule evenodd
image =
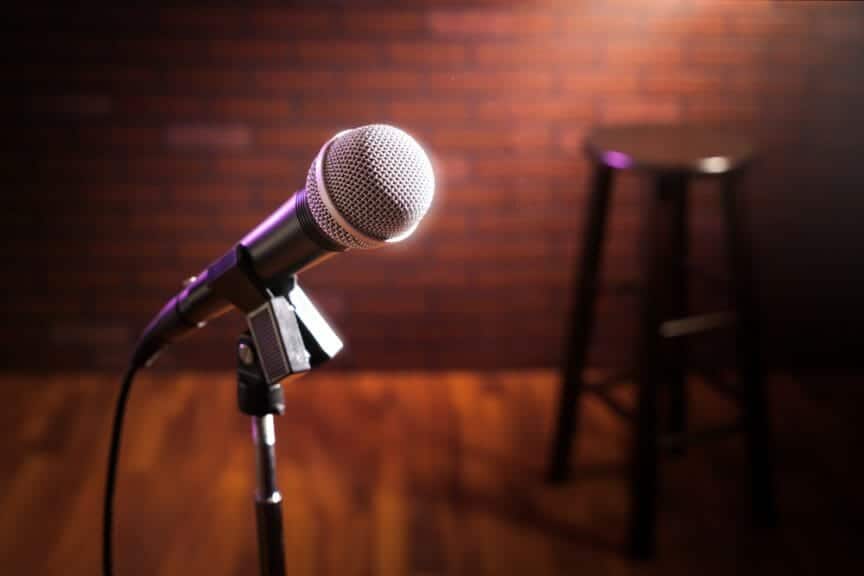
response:
<svg viewBox="0 0 864 576"><path fill-rule="evenodd" d="M556 363L582 139L630 121L759 134L751 188L769 358L855 361L864 7L297 4L16 19L12 77L25 88L9 108L6 366L122 364L184 276L301 186L329 135L370 122L416 135L439 189L410 241L304 275L349 345L342 366ZM615 281L635 273L639 191L630 179L615 196ZM696 192L694 259L718 269L719 199ZM600 313L596 362L624 362L632 296L606 293ZM163 362L224 367L239 326L217 322Z"/></svg>

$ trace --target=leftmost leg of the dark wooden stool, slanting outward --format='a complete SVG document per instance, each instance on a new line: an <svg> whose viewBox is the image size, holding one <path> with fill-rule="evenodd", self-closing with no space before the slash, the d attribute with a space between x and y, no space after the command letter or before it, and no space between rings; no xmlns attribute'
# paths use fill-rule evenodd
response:
<svg viewBox="0 0 864 576"><path fill-rule="evenodd" d="M573 435L578 429L582 371L594 324L597 273L603 250L606 214L612 188L612 169L597 165L592 175L588 212L585 219L582 254L577 261L579 283L574 282L571 313L565 337L563 378L558 398L558 418L547 470L547 480L563 482L570 474Z"/></svg>

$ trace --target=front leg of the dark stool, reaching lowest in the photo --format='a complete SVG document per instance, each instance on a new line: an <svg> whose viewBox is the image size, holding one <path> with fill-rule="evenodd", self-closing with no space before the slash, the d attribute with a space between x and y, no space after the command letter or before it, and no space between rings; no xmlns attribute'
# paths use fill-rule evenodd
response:
<svg viewBox="0 0 864 576"><path fill-rule="evenodd" d="M636 420L630 459L630 554L637 560L654 555L657 525L657 396L662 371L660 320L665 273L664 233L674 177L661 175L656 190L644 195L642 214L639 338L636 351Z"/></svg>

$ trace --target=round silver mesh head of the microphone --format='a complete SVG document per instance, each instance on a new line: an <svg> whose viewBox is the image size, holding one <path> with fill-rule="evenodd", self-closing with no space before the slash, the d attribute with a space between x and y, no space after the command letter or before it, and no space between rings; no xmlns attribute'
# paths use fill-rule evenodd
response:
<svg viewBox="0 0 864 576"><path fill-rule="evenodd" d="M435 175L426 153L411 136L386 124L339 134L312 163L306 179L312 217L325 235L346 248L374 248L407 237L434 193Z"/></svg>

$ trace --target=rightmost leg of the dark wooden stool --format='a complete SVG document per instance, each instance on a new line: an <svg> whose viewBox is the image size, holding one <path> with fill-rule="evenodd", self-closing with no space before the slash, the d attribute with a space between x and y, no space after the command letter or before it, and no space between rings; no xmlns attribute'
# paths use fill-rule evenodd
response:
<svg viewBox="0 0 864 576"><path fill-rule="evenodd" d="M735 355L750 457L753 513L758 522L770 525L775 518L771 424L759 351L751 230L746 208L739 197L741 176L740 173L729 174L723 184L729 273L736 314Z"/></svg>

